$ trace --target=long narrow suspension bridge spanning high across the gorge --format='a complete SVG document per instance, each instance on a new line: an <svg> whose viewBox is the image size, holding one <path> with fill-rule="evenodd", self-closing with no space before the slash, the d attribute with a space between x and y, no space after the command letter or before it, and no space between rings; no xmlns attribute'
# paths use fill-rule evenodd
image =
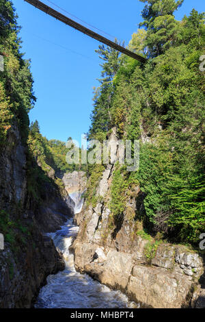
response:
<svg viewBox="0 0 205 322"><path fill-rule="evenodd" d="M135 60L138 60L139 62L145 63L146 58L143 58L141 55L137 55L137 53L133 53L133 51L130 51L117 43L101 36L100 34L97 34L96 32L92 31L91 29L88 29L87 27L81 25L80 23L77 23L76 21L68 18L68 16L64 16L64 14L61 14L60 12L54 10L53 8L49 7L48 5L45 5L42 1L38 0L25 0L26 2L30 3L34 7L38 8L42 12L45 12L46 14L49 14L50 16L53 16L53 18L56 18L57 20L61 21L62 23L65 23L66 25L69 25L70 27L77 29L79 32L82 32L83 34L86 34L87 36L90 36L99 42L102 42L103 44L120 51L120 53L124 53L125 55L130 56L131 58L134 58Z"/></svg>

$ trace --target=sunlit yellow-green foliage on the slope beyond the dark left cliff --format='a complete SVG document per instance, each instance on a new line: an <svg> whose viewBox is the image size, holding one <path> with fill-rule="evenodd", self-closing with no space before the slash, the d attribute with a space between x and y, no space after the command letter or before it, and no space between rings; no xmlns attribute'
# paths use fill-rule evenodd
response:
<svg viewBox="0 0 205 322"><path fill-rule="evenodd" d="M43 193L46 182L51 184L55 182L60 189L63 188L61 179L55 177L55 173L63 175L66 172L86 171L85 165L68 164L66 162L66 153L68 153L66 143L60 140L47 140L43 137L40 134L38 121L31 123L27 143L29 145L29 192L35 199L40 197L40 191ZM35 160L40 167L37 166Z"/></svg>

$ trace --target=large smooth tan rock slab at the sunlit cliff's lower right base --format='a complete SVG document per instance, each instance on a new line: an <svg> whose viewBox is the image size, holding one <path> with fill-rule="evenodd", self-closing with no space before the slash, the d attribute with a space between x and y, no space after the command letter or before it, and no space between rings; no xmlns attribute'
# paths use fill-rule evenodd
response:
<svg viewBox="0 0 205 322"><path fill-rule="evenodd" d="M180 308L191 283L184 276L156 267L133 267L127 291L152 308Z"/></svg>

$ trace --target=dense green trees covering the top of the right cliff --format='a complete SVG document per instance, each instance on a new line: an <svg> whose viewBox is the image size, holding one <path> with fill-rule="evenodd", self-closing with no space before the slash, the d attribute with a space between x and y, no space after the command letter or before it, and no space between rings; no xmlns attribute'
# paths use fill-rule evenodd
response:
<svg viewBox="0 0 205 322"><path fill-rule="evenodd" d="M90 134L103 138L115 127L119 138L141 139L139 171L113 174L113 215L120 218L126 190L139 185L146 231L196 244L205 227L204 13L192 10L176 21L182 1L142 2L146 32L134 34L129 46L152 59L142 66L122 55L109 87L98 90Z"/></svg>

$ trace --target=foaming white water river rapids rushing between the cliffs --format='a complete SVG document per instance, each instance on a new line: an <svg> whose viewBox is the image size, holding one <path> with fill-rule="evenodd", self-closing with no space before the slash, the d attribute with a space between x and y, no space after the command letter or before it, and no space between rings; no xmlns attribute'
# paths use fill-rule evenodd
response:
<svg viewBox="0 0 205 322"><path fill-rule="evenodd" d="M74 197L74 196L71 196ZM74 200L76 201L76 200ZM81 210L75 206L76 212ZM120 291L109 289L86 274L80 274L74 269L74 256L69 251L73 238L79 228L70 219L66 225L55 233L48 234L53 238L55 247L64 254L66 269L56 275L47 277L46 286L42 287L36 300L35 308L137 308L128 301Z"/></svg>

